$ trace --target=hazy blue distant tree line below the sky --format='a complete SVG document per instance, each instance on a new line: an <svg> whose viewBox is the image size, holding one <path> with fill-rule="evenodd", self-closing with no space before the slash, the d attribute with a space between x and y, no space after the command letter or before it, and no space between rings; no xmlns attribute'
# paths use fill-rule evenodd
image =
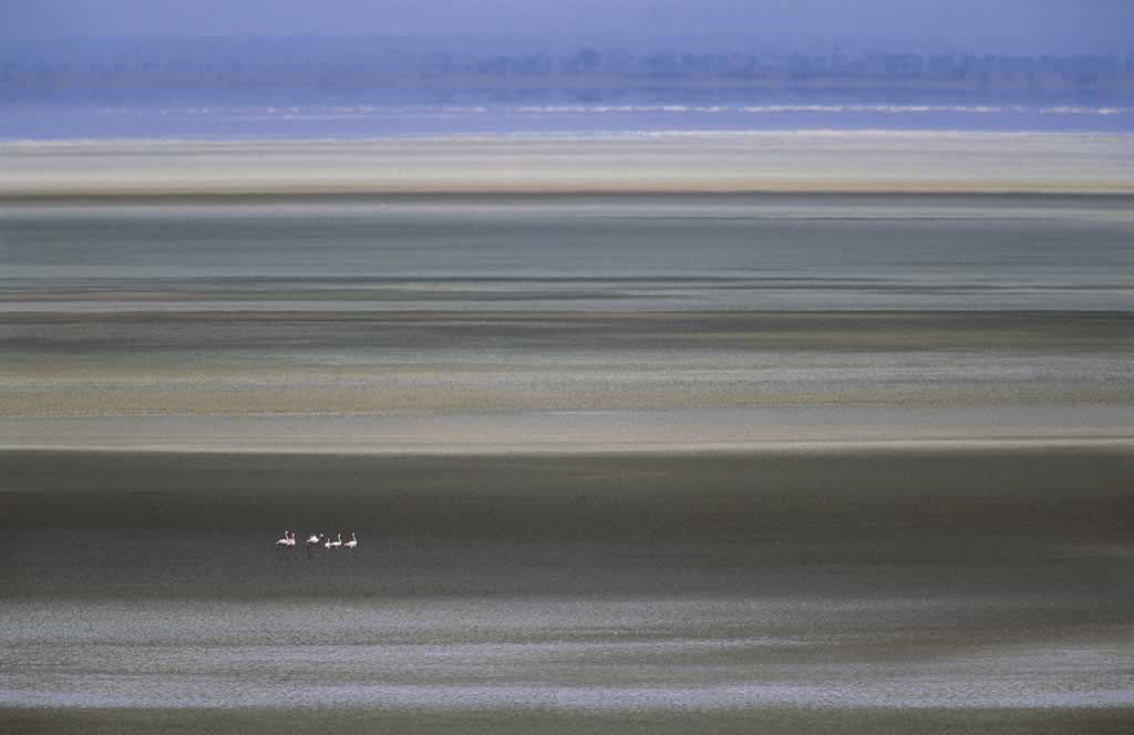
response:
<svg viewBox="0 0 1134 735"><path fill-rule="evenodd" d="M417 99L617 99L773 93L1013 95L1134 100L1134 53L997 56L628 51L484 53L361 41L60 48L0 45L0 100L113 99L291 93L365 93Z"/></svg>

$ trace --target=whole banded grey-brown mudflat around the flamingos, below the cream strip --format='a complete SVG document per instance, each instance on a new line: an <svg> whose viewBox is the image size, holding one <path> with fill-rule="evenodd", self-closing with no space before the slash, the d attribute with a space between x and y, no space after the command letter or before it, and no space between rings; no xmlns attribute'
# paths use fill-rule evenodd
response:
<svg viewBox="0 0 1134 735"><path fill-rule="evenodd" d="M8 729L1128 729L1127 197L194 191L0 213Z"/></svg>

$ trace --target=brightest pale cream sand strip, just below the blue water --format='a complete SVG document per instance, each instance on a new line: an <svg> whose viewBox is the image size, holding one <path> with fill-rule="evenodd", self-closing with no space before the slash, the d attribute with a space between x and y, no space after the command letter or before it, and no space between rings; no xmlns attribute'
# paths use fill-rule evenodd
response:
<svg viewBox="0 0 1134 735"><path fill-rule="evenodd" d="M1132 193L1134 135L754 132L0 143L0 197L819 191Z"/></svg>

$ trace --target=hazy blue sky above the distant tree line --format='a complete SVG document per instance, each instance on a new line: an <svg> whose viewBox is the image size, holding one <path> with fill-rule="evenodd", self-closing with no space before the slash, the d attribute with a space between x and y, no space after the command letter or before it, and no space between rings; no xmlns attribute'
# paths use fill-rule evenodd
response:
<svg viewBox="0 0 1134 735"><path fill-rule="evenodd" d="M1134 0L0 0L3 35L660 36L1134 52Z"/></svg>

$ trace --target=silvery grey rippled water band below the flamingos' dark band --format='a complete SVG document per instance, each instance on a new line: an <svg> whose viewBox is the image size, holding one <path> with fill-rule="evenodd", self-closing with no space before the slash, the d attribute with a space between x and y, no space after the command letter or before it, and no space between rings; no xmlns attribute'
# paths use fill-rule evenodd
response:
<svg viewBox="0 0 1134 735"><path fill-rule="evenodd" d="M1029 640L1038 632L1029 614L1052 605L747 595L6 602L0 704L1134 706L1128 627ZM1013 617L1022 625L998 630Z"/></svg>

